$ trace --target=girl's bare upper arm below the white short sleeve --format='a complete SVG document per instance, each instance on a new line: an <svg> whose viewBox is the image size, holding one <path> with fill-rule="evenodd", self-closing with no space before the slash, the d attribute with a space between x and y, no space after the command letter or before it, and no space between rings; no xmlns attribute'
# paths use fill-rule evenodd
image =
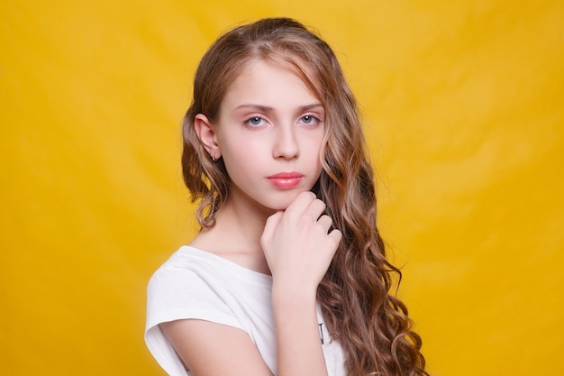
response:
<svg viewBox="0 0 564 376"><path fill-rule="evenodd" d="M272 376L250 336L241 329L196 319L170 321L160 328L195 376Z"/></svg>

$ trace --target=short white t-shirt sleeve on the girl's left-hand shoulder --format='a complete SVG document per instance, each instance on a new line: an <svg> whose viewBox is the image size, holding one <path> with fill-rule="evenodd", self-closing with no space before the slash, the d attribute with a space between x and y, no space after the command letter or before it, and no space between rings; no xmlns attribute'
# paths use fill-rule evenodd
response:
<svg viewBox="0 0 564 376"><path fill-rule="evenodd" d="M147 289L145 343L159 365L171 376L188 373L159 324L187 318L242 329L223 301L221 284L206 280L196 271L165 264L153 274Z"/></svg>

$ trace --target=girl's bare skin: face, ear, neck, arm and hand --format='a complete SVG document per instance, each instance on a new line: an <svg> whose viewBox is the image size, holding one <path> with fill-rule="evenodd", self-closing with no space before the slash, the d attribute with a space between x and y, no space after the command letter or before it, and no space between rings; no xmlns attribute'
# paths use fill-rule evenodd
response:
<svg viewBox="0 0 564 376"><path fill-rule="evenodd" d="M205 150L223 158L232 184L216 225L191 245L272 275L280 376L327 375L315 294L341 233L329 232L325 204L309 191L322 170L323 118L300 78L268 60L243 69L215 124L195 118ZM272 374L240 329L195 319L161 328L197 376Z"/></svg>

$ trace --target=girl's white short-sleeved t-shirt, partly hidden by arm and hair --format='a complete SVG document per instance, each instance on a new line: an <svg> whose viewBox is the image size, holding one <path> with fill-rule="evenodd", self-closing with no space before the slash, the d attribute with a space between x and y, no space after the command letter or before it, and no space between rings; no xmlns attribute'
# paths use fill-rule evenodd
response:
<svg viewBox="0 0 564 376"><path fill-rule="evenodd" d="M145 343L171 376L190 375L159 328L160 323L196 318L245 331L268 368L277 374L272 278L213 253L182 246L150 279ZM330 376L344 376L341 345L332 341L317 309L320 341Z"/></svg>

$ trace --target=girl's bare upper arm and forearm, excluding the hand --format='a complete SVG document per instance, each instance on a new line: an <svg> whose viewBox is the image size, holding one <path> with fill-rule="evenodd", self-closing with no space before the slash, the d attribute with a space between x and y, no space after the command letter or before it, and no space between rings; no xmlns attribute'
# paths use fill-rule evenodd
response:
<svg viewBox="0 0 564 376"><path fill-rule="evenodd" d="M273 291L278 375L326 375L315 297ZM241 329L185 319L159 325L195 376L272 376L259 350ZM188 340L189 339L189 340Z"/></svg>

